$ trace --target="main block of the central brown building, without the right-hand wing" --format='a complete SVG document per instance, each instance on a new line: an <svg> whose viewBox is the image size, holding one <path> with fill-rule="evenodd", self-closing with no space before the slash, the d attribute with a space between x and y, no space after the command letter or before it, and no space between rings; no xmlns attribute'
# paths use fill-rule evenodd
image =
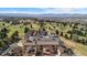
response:
<svg viewBox="0 0 87 65"><path fill-rule="evenodd" d="M28 55L55 55L57 54L58 37L47 35L46 31L40 33L31 31L25 36L26 42L24 44L25 53Z"/></svg>

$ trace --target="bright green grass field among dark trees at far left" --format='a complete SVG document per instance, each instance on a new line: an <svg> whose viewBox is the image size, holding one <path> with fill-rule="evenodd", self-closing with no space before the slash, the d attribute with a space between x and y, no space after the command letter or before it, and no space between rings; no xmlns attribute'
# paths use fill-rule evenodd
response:
<svg viewBox="0 0 87 65"><path fill-rule="evenodd" d="M24 34L23 24L11 25L10 23L4 23L4 25L2 25L3 23L4 22L0 22L0 29L7 28L9 30L8 37L10 37L14 31L18 31L20 36Z"/></svg>

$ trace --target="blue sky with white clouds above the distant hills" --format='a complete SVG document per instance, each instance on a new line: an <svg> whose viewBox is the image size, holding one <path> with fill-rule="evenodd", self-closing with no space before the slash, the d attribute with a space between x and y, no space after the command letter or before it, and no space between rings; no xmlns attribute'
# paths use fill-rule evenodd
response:
<svg viewBox="0 0 87 65"><path fill-rule="evenodd" d="M0 8L0 13L79 13L87 14L87 8Z"/></svg>

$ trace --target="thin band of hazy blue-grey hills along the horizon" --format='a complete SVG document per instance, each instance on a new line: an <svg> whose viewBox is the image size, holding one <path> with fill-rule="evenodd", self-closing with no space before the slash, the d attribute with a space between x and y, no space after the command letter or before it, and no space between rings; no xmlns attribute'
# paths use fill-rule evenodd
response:
<svg viewBox="0 0 87 65"><path fill-rule="evenodd" d="M67 14L67 13L63 13L63 14L52 14L52 13L47 13L47 14L25 14L25 13L0 13L0 17L53 17L53 18L59 18L59 17L87 17L87 14Z"/></svg>

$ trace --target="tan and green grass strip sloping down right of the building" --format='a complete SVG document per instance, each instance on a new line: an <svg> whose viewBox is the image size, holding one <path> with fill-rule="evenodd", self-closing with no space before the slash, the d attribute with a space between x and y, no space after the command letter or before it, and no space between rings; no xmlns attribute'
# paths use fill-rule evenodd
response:
<svg viewBox="0 0 87 65"><path fill-rule="evenodd" d="M87 56L87 45L83 45L64 37L61 37L61 40L64 41L64 45L72 48L76 55Z"/></svg>

